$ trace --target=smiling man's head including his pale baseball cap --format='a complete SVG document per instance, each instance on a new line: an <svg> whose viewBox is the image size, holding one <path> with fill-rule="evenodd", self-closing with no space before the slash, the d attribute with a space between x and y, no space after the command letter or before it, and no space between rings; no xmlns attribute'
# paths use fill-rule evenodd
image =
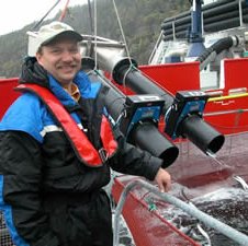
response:
<svg viewBox="0 0 248 246"><path fill-rule="evenodd" d="M60 32L63 27L65 31ZM56 30L58 34L54 37ZM36 54L37 62L70 91L72 80L81 67L81 35L64 23L54 23L52 26L43 26L37 38L42 42Z"/></svg>

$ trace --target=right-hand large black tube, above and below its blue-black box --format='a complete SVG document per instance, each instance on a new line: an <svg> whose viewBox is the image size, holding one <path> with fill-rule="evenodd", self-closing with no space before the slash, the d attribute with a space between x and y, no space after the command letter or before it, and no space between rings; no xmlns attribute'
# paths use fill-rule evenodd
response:
<svg viewBox="0 0 248 246"><path fill-rule="evenodd" d="M166 93L165 90L160 89L159 85L156 85L155 82L151 82L138 70L117 65L113 71L114 80L117 83L123 84L123 80L125 78L125 85L132 89L134 92L138 94L157 94L165 98L166 104L164 113L166 113L174 102L173 96ZM194 126L192 127L188 122L192 122ZM187 136L189 140L191 140L200 150L204 151L205 153L217 152L224 143L224 136L217 132L198 115L184 120L180 129L182 137Z"/></svg>

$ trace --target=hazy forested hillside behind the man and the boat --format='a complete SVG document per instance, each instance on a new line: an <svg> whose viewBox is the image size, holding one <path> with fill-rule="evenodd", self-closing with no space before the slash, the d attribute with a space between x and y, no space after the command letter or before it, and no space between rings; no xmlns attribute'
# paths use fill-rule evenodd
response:
<svg viewBox="0 0 248 246"><path fill-rule="evenodd" d="M162 20L190 8L189 1L185 0L116 0L115 2L131 56L139 65L147 63L160 33ZM112 1L98 0L97 5L98 35L122 40ZM60 13L55 20L59 16ZM83 34L91 34L89 16L88 5L78 5L68 10L64 22ZM49 21L52 20L46 20ZM34 25L35 23L31 23L18 32L0 36L0 77L19 77L22 60L26 56L26 32Z"/></svg>

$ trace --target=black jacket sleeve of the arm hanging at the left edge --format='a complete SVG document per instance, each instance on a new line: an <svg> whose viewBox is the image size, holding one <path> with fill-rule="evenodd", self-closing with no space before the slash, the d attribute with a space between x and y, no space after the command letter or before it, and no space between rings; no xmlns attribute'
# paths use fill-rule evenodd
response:
<svg viewBox="0 0 248 246"><path fill-rule="evenodd" d="M18 235L32 246L58 246L41 202L42 153L38 142L21 131L0 132L3 201L11 208Z"/></svg>

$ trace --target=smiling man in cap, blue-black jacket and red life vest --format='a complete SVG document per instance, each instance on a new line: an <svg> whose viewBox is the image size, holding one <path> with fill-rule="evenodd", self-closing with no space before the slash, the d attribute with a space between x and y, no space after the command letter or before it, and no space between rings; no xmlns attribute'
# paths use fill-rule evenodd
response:
<svg viewBox="0 0 248 246"><path fill-rule="evenodd" d="M20 77L24 93L0 124L0 204L12 238L16 246L111 246L102 189L110 167L156 180L161 191L170 175L160 159L114 138L104 87L80 71L81 35L53 22L33 37Z"/></svg>

